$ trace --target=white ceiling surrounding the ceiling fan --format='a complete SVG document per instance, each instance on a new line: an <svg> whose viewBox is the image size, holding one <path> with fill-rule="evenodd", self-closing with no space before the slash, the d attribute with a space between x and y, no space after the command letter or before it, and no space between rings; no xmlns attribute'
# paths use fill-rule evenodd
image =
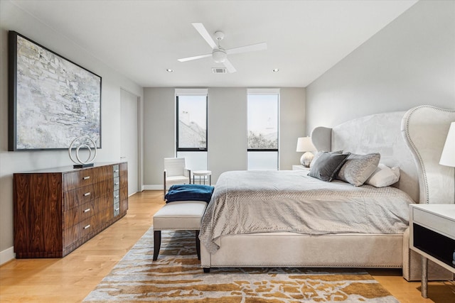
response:
<svg viewBox="0 0 455 303"><path fill-rule="evenodd" d="M306 87L416 2L12 1L141 87ZM193 22L223 31L223 48L267 50L228 55L232 74L178 62L211 53Z"/></svg>

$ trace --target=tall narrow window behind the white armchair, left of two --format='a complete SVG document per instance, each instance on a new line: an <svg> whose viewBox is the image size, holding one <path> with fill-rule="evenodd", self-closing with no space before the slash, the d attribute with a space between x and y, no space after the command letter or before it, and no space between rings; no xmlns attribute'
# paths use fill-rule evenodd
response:
<svg viewBox="0 0 455 303"><path fill-rule="evenodd" d="M207 89L176 89L176 155L207 170Z"/></svg>

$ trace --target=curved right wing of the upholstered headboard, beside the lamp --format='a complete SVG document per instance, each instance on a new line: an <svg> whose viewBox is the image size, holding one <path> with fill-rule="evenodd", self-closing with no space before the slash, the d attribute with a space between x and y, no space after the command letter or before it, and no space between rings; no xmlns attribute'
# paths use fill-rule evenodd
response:
<svg viewBox="0 0 455 303"><path fill-rule="evenodd" d="M455 168L439 164L454 109L417 106L406 112L402 132L419 174L419 203L455 203Z"/></svg>

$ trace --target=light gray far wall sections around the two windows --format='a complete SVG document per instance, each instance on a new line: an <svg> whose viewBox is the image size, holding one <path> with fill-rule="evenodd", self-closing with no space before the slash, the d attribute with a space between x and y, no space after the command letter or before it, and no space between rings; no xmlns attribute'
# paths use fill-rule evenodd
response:
<svg viewBox="0 0 455 303"><path fill-rule="evenodd" d="M163 158L175 155L175 89L144 89L144 188L161 189ZM247 88L208 89L208 169L212 183L222 172L247 169ZM280 169L298 164L299 136L305 130L305 89L280 89Z"/></svg>

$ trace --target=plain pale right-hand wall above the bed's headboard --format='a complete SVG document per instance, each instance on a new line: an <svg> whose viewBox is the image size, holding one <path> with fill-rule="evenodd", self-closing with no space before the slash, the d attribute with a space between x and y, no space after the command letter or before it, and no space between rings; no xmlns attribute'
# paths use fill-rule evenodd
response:
<svg viewBox="0 0 455 303"><path fill-rule="evenodd" d="M419 1L306 88L306 127L430 104L455 109L455 1Z"/></svg>

